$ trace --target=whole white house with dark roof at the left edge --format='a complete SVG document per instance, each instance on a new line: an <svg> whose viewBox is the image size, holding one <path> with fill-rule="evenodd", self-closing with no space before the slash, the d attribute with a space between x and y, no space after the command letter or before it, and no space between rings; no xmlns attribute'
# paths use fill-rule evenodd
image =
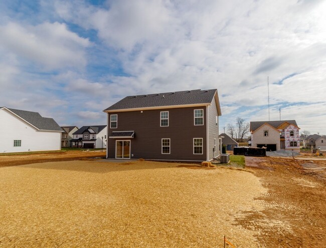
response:
<svg viewBox="0 0 326 248"><path fill-rule="evenodd" d="M61 150L62 129L53 118L0 107L0 153Z"/></svg>

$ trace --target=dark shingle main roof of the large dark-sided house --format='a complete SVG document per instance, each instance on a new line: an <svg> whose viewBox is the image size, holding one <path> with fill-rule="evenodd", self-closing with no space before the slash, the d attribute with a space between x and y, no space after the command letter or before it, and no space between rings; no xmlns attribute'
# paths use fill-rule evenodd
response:
<svg viewBox="0 0 326 248"><path fill-rule="evenodd" d="M148 95L127 96L112 106L106 108L104 111L211 103L216 92L217 89L196 89Z"/></svg>

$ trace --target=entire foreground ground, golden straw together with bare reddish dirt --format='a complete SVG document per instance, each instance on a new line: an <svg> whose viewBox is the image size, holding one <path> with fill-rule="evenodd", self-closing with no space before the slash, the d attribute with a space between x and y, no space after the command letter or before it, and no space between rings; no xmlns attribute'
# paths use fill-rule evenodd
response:
<svg viewBox="0 0 326 248"><path fill-rule="evenodd" d="M223 247L224 235L236 247L326 247L325 173L302 167L326 161L16 156L0 156L0 247Z"/></svg>

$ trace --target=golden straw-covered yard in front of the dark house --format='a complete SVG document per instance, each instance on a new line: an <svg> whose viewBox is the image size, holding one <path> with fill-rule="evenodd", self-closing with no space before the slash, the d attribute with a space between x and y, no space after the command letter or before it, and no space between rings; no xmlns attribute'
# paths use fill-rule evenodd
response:
<svg viewBox="0 0 326 248"><path fill-rule="evenodd" d="M244 170L136 161L0 168L1 247L260 247L236 224L267 190Z"/></svg>

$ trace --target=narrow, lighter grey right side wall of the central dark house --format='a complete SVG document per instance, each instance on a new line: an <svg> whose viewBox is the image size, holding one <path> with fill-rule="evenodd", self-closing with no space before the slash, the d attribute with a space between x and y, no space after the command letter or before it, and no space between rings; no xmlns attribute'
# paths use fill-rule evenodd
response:
<svg viewBox="0 0 326 248"><path fill-rule="evenodd" d="M216 126L216 116L217 116L217 126ZM213 98L212 104L208 106L208 134L209 134L209 161L219 155L219 116L217 112L216 102ZM216 140L216 149L213 153L214 139Z"/></svg>

